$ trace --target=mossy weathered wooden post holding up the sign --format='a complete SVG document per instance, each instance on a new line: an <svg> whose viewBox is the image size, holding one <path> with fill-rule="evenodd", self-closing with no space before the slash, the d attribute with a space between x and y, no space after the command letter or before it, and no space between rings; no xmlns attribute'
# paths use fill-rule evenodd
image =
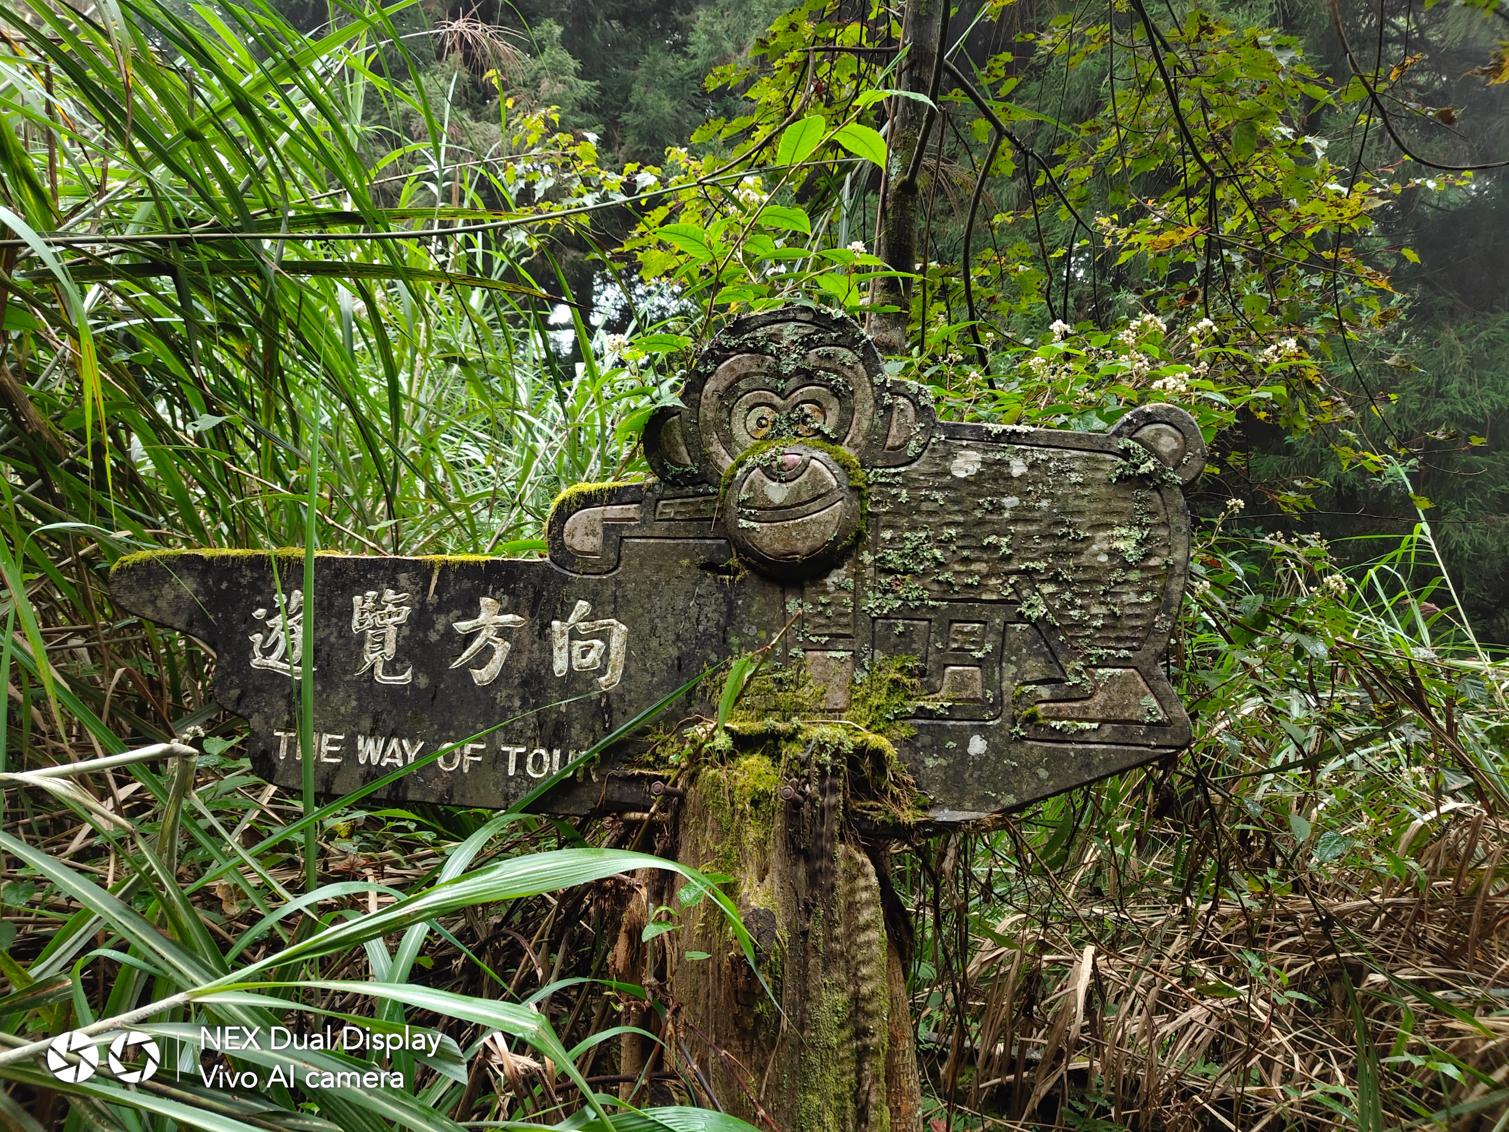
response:
<svg viewBox="0 0 1509 1132"><path fill-rule="evenodd" d="M676 856L733 877L759 972L711 901L681 909L681 930L655 940L670 972L667 1040L696 1066L700 1091L756 1126L919 1132L901 955L871 851L845 814L842 770L825 762L807 759L789 800L783 776L800 771L767 749L706 765L688 788Z"/></svg>

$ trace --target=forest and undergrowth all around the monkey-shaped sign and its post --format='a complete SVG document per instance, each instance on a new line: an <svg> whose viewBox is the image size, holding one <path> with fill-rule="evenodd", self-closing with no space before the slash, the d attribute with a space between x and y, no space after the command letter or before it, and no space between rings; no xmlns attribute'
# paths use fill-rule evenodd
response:
<svg viewBox="0 0 1509 1132"><path fill-rule="evenodd" d="M537 552L560 489L643 472L690 353L789 300L871 317L946 417L1171 400L1213 453L1191 750L890 857L922 1120L1509 1120L1492 0L964 5L920 88L899 8L821 0L0 23L9 1127L720 1126L715 1052L604 983L652 823L279 794L213 658L107 575ZM678 906L647 912L673 946ZM631 1064L611 1023L646 996L662 1052ZM407 1100L36 1063L127 1016L373 998L468 1026Z"/></svg>

